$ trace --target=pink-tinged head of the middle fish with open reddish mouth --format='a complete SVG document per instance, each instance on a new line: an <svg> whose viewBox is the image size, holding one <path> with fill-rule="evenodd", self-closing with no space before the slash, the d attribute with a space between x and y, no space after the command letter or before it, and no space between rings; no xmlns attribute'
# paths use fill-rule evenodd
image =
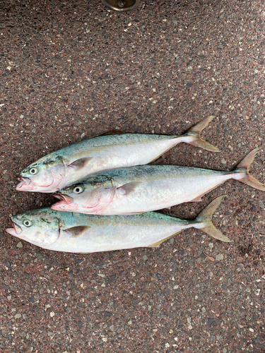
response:
<svg viewBox="0 0 265 353"><path fill-rule="evenodd" d="M102 210L113 198L113 187L104 182L81 181L54 193L59 202L52 205L52 210L76 211L85 210L94 213Z"/></svg>

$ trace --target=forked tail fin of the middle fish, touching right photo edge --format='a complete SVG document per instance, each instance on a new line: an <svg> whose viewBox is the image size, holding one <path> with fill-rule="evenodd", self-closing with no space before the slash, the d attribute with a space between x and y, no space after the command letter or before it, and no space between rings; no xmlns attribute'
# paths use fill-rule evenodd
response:
<svg viewBox="0 0 265 353"><path fill-rule="evenodd" d="M262 191L265 191L265 184L262 184L259 180L255 179L252 177L252 175L249 174L249 167L250 164L254 161L254 158L257 155L257 152L259 152L259 148L255 148L249 154L240 162L240 164L233 169L233 172L238 172L239 175L241 174L242 177L235 177L234 179L238 179L242 181L242 183L247 184L249 186L252 186L255 189L259 189Z"/></svg>

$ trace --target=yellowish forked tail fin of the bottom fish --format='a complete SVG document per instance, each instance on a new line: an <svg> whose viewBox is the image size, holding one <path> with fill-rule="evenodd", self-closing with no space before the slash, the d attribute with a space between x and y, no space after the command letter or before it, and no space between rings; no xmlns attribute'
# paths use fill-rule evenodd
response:
<svg viewBox="0 0 265 353"><path fill-rule="evenodd" d="M219 229L217 229L211 219L213 217L213 213L216 211L216 208L220 205L220 203L225 198L225 195L219 196L215 200L213 200L201 213L196 217L194 222L198 222L198 227L194 226L195 228L201 229L206 234L210 235L213 238L216 238L220 241L230 242L231 240L226 237ZM201 223L204 223L204 227L200 227Z"/></svg>

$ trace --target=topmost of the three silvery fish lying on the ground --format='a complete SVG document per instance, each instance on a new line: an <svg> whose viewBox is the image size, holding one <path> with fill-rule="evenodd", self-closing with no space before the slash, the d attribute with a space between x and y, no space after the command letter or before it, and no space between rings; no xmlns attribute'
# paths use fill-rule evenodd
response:
<svg viewBox="0 0 265 353"><path fill-rule="evenodd" d="M201 131L215 116L207 116L180 136L120 133L98 136L49 153L20 173L17 191L54 193L89 174L117 167L148 164L178 143L205 150L219 149L203 140Z"/></svg>

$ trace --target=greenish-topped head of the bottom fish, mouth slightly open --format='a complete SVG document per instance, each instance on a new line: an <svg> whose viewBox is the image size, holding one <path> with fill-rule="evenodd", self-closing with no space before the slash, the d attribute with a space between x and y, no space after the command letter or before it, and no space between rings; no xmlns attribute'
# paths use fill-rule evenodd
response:
<svg viewBox="0 0 265 353"><path fill-rule="evenodd" d="M11 221L13 227L6 232L31 244L45 247L59 238L60 222L50 208L29 210L12 216Z"/></svg>

